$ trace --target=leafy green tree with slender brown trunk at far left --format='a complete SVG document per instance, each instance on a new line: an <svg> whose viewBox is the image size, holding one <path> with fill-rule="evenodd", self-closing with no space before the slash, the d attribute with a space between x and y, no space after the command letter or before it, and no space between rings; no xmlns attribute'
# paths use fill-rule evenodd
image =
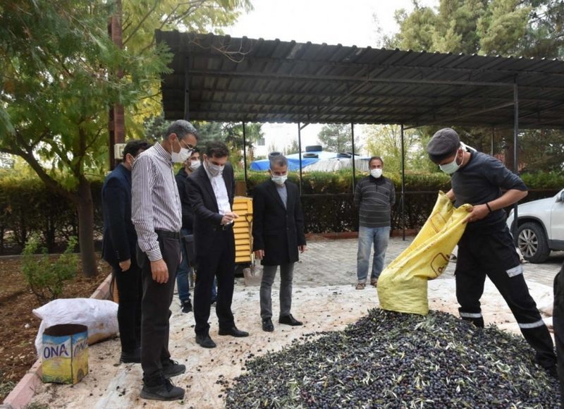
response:
<svg viewBox="0 0 564 409"><path fill-rule="evenodd" d="M135 104L166 70L162 47L133 54L111 42L112 13L102 0L22 0L0 15L0 152L23 158L75 204L87 276L97 272L87 174L103 172L107 108Z"/></svg>

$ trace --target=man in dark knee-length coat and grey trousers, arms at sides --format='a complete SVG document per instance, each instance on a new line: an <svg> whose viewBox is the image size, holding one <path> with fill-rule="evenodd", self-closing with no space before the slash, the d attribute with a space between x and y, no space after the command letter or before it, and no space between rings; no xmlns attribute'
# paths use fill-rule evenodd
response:
<svg viewBox="0 0 564 409"><path fill-rule="evenodd" d="M306 250L304 219L298 186L289 182L288 159L282 155L270 160L271 180L255 188L252 198L252 250L262 260L260 316L262 329L274 331L271 288L280 266L280 315L278 323L302 325L290 314L292 280L298 251Z"/></svg>

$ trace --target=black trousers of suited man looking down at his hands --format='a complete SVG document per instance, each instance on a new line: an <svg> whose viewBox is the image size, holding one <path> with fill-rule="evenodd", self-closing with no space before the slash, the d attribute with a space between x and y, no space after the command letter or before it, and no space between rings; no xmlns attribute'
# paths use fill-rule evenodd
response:
<svg viewBox="0 0 564 409"><path fill-rule="evenodd" d="M217 277L216 315L219 328L235 326L231 301L235 281L235 238L233 229L215 232L214 248L205 255L196 255L196 283L194 287L194 318L197 335L209 332L209 309L214 276ZM197 238L195 238L197 240Z"/></svg>

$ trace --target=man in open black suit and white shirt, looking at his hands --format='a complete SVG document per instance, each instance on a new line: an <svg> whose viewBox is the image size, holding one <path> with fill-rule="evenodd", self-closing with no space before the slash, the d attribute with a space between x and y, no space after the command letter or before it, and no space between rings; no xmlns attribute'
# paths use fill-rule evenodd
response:
<svg viewBox="0 0 564 409"><path fill-rule="evenodd" d="M194 209L196 284L194 317L196 343L203 348L216 344L209 336L209 308L212 284L217 277L216 314L219 335L248 336L235 326L231 301L235 280L235 237L231 211L235 192L233 167L227 163L229 151L223 142L209 142L203 166L188 178L188 198Z"/></svg>

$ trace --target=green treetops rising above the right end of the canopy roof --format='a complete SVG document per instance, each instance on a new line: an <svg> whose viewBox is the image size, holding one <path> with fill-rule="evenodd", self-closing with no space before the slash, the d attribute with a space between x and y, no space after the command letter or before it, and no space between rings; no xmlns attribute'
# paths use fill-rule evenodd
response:
<svg viewBox="0 0 564 409"><path fill-rule="evenodd" d="M396 11L391 44L416 51L524 57L564 55L560 0L441 0L439 7Z"/></svg>

